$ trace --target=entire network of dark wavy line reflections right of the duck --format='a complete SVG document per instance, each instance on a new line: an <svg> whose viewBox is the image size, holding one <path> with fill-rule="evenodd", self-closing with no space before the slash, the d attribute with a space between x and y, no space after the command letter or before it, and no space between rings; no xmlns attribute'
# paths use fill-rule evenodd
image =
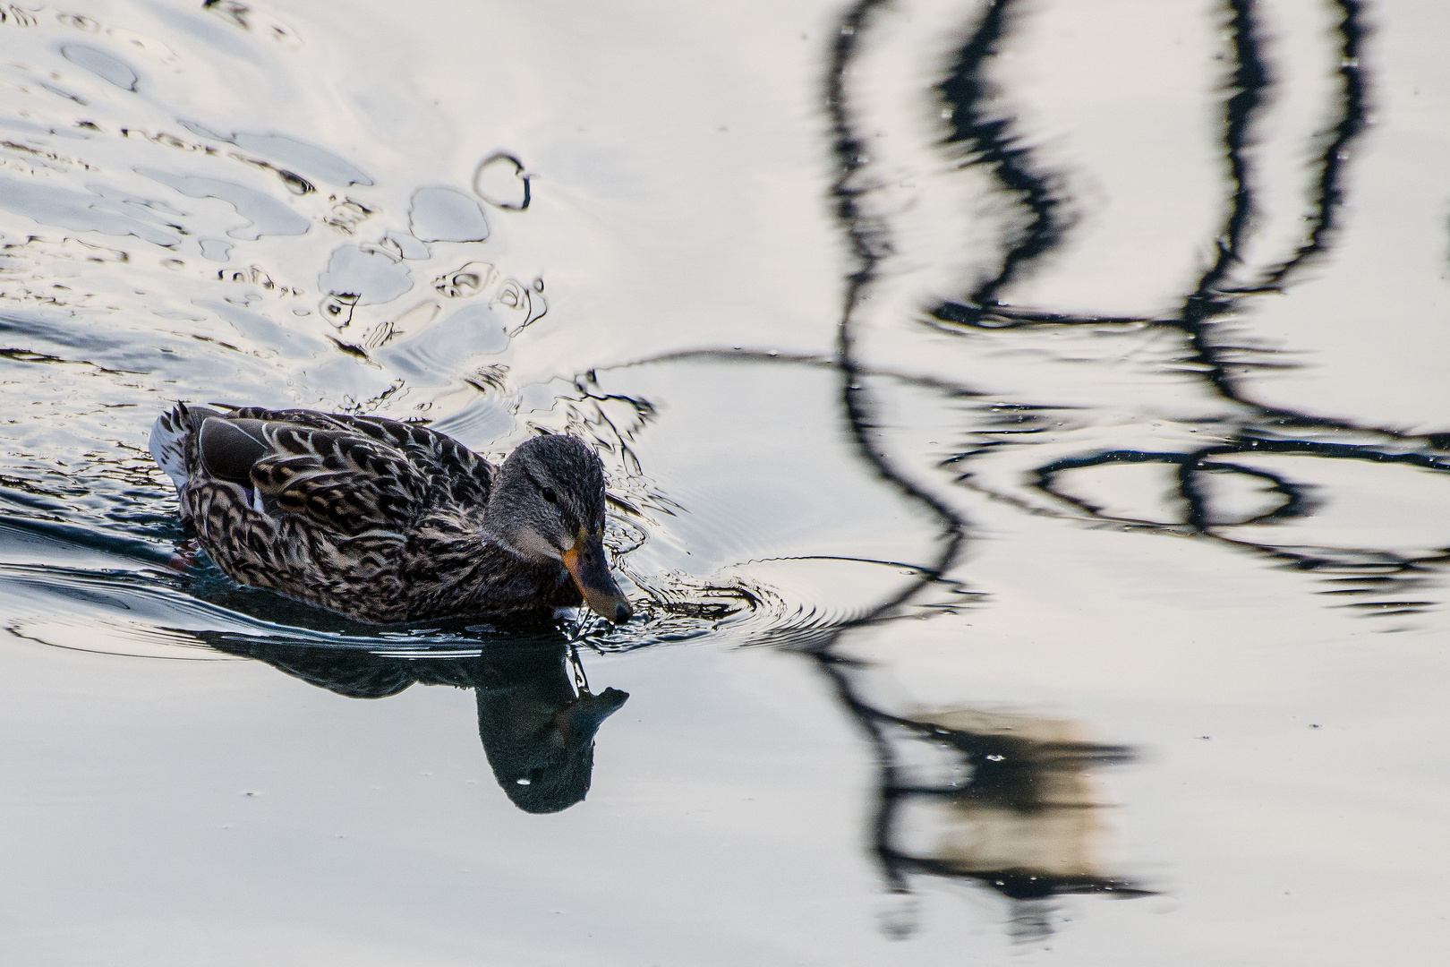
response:
<svg viewBox="0 0 1450 967"><path fill-rule="evenodd" d="M937 93L948 101L951 116L951 132L945 139L947 146L961 149L967 165L987 168L998 184L1000 193L1006 194L1016 204L1025 209L1025 223L1016 233L1002 242L1000 261L995 275L980 281L966 303L942 303L929 310L927 322L947 332L960 332L963 328L992 329L992 328L1045 328L1061 325L1148 325L1173 328L1188 336L1189 358L1199 364L1201 378L1224 400L1240 404L1243 412L1235 420L1237 435L1222 444L1198 448L1189 452L1147 452L1135 449L1114 449L1096 452L1086 457L1069 457L1054 460L1040 465L1035 474L1035 486L1069 506L1074 506L1083 515L1099 520L1111 520L1101 507L1095 507L1085 500L1079 500L1054 487L1054 477L1064 470L1101 465L1106 462L1167 462L1176 467L1177 491L1186 506L1186 519L1176 526L1164 526L1150 522L1132 522L1144 528L1151 528L1164 534L1201 534L1215 536L1238 547L1251 547L1256 551L1276 555L1286 564L1299 568L1327 568L1334 561L1333 555L1318 555L1318 549L1283 549L1272 547L1257 547L1241 539L1225 538L1215 534L1221 522L1214 520L1208 497L1201 487L1204 474L1208 473L1241 473L1267 484L1267 490L1279 497L1277 506L1257 513L1247 520L1237 523L1272 523L1295 516L1312 513L1314 505L1309 500L1306 487L1289 478L1251 467L1240 467L1225 457L1234 454L1295 454L1312 455L1334 460L1356 460L1395 462L1421 467L1433 471L1450 470L1450 460L1434 452L1444 449L1450 439L1443 436L1412 436L1395 431L1369 429L1354 425L1350 420L1318 418L1272 406L1257 404L1248 400L1235 384L1232 367L1247 368L1250 365L1275 365L1263 361L1240 362L1234 354L1253 352L1253 346L1232 346L1222 341L1215 342L1211 332L1212 323L1238 309L1238 303L1248 294L1264 291L1266 289L1282 289L1286 280L1311 258L1322 255L1334 239L1338 212L1343 207L1344 193L1341 188L1346 148L1359 136L1364 126L1364 77L1359 64L1364 28L1360 23L1360 0L1335 0L1343 19L1338 25L1341 36L1341 91L1338 100L1340 119L1335 122L1327 139L1324 155L1320 161L1318 186L1314 200L1314 213L1309 216L1309 232L1304 244L1285 261L1264 270L1260 281L1251 287L1231 284L1232 275L1243 264L1243 249L1253 226L1256 213L1253 167L1250 161L1250 146L1253 126L1262 107L1264 106L1272 86L1269 62L1264 58L1263 45L1259 35L1256 17L1256 0L1224 0L1227 12L1228 41L1231 51L1231 68L1228 77L1228 97L1224 104L1222 144L1227 161L1228 199L1224 222L1218 229L1212 262L1202 271L1192 291L1183 296L1179 312L1172 318L1116 318L1086 313L1056 313L1018 309L1000 303L1002 293L1016 281L1024 270L1041 261L1041 258L1056 248L1067 228L1067 220L1061 215L1063 200L1054 193L1053 175L1043 173L1032 164L1028 148L1022 146L1019 135L1012 130L1009 116L993 115L990 100L995 91L986 80L986 67L998 55L1005 38L1011 33L1012 0L989 0L982 19L974 30L960 46L950 75L937 87ZM826 80L826 107L831 120L832 151L837 162L837 177L832 184L835 200L835 215L842 233L848 242L854 260L853 270L845 277L844 306L838 329L837 360L834 365L841 371L842 390L841 406L851 438L857 445L861 460L882 480L900 491L908 500L928 509L941 528L940 560L928 571L945 574L956 561L957 554L966 539L966 519L947 506L932 493L914 484L905 473L896 468L876 444L871 413L874 406L866 386L867 375L890 375L912 383L922 383L916 377L892 374L867 367L856 354L854 323L857 309L873 286L880 262L893 251L893 239L889 235L889 225L884 220L867 216L861 204L861 196L870 190L864 186L861 174L869 164L869 154L864 141L856 133L854 117L847 97L847 78L856 61L861 35L869 29L876 16L889 4L886 0L858 0L842 17L840 32L831 49L829 75ZM945 115L944 115L945 116ZM760 354L741 355L740 352L696 351L692 354L674 354L673 358L761 358ZM825 360L811 357L792 357L780 361L805 365L829 365ZM970 387L953 386L948 381L931 381L932 389L950 391L961 396L974 394ZM1214 426L1215 435L1222 432L1222 426ZM1338 442L1322 439L1292 439L1285 436L1289 432L1308 435L1311 431L1331 433L1373 433L1375 441L1366 444ZM1032 438L1032 428L1000 429L993 433L999 438L987 445L970 452L958 454L956 462L966 462L982 454L990 452L992 444L1000 445L1012 432L1011 439L1027 445ZM960 480L966 480L966 474ZM996 494L1000 496L1000 494ZM1019 502L1024 509L1032 509L1027 502ZM1414 568L1414 563L1389 558L1388 552L1380 555L1379 567L1383 568ZM1450 560L1450 551L1444 555ZM1425 560L1425 558L1422 558ZM1438 560L1438 558L1437 558ZM1383 577L1383 574L1376 574ZM905 892L908 871L925 871L941 876L973 876L963 867L929 858L909 858L896 852L892 842L892 822L896 816L898 800L903 796L921 794L924 790L903 784L900 770L892 751L889 732L892 729L914 731L922 728L921 722L911 722L861 700L853 681L860 670L841 660L837 652L844 634L851 626L864 626L873 621L887 616L899 609L906 600L916 594L922 581L912 581L898 594L882 602L866 618L848 622L815 641L808 648L815 658L818 668L834 684L837 697L853 718L858 722L876 750L880 763L880 802L874 815L874 850L882 864L887 884L893 890ZM1359 593L1362 589L1338 589L1343 593ZM1399 602L1409 606L1414 602ZM974 780L980 773L973 773ZM937 790L942 796L958 794L960 790ZM1012 871L1002 871L993 886L1009 895L1030 896L1048 895L1053 892L1082 889L1115 890L1127 884L1101 881L1070 883L1058 880L1051 884L1030 880L1014 880ZM1035 893L1040 892L1040 893Z"/></svg>

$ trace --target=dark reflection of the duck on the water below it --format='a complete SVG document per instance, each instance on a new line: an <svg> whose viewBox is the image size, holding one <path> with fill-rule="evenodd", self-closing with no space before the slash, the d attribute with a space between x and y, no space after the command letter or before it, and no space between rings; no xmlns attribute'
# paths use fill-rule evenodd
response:
<svg viewBox="0 0 1450 967"><path fill-rule="evenodd" d="M563 638L490 642L481 654L450 658L239 636L209 644L349 699L383 699L413 683L473 689L493 777L515 806L531 813L560 812L589 794L594 734L629 697L619 689L592 693Z"/></svg>

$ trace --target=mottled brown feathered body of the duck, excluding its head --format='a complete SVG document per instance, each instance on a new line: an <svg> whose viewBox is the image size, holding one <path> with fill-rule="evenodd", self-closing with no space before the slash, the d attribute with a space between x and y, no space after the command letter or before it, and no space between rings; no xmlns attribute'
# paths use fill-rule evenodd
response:
<svg viewBox="0 0 1450 967"><path fill-rule="evenodd" d="M264 448L239 478L207 471L207 420L246 420ZM254 423L252 420L257 420ZM563 565L492 542L483 513L496 468L416 423L315 410L178 406L180 512L233 580L373 622L577 606ZM188 432L187 432L188 428ZM218 433L225 447L228 435ZM168 447L173 444L167 444ZM255 451L255 452L252 452ZM231 457L218 460L232 476ZM245 467L242 467L245 470Z"/></svg>

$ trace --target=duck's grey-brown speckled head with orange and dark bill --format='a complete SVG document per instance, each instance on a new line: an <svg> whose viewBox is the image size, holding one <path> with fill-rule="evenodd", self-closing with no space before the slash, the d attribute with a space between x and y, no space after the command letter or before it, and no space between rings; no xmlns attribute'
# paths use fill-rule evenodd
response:
<svg viewBox="0 0 1450 967"><path fill-rule="evenodd" d="M589 447L561 433L519 445L493 481L484 523L521 557L561 561L594 613L629 621L605 557L605 468Z"/></svg>

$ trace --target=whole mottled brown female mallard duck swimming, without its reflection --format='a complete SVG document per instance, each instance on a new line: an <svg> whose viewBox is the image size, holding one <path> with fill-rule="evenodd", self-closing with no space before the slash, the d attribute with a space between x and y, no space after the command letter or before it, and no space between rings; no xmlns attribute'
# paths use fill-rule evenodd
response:
<svg viewBox="0 0 1450 967"><path fill-rule="evenodd" d="M370 622L631 609L605 557L605 473L573 436L494 467L416 423L178 403L151 454L229 577Z"/></svg>

